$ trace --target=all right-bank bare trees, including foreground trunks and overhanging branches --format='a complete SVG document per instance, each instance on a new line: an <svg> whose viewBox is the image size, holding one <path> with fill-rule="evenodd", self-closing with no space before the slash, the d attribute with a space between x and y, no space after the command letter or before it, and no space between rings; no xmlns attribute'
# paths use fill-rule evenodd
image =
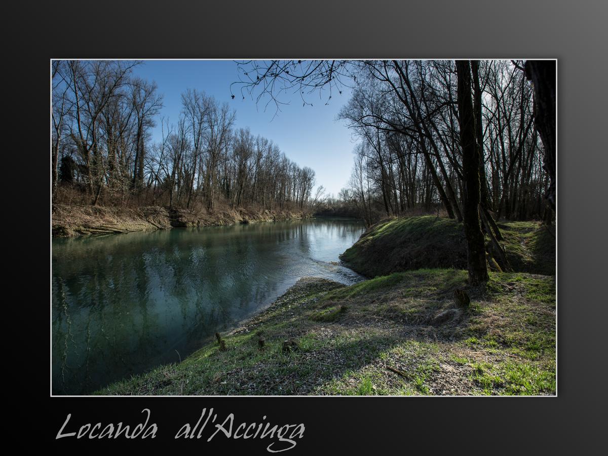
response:
<svg viewBox="0 0 608 456"><path fill-rule="evenodd" d="M556 208L554 61L242 61L241 94L286 93L330 102L360 139L350 187L331 206L356 207L367 224L432 209L463 221L469 282L488 279L488 250L510 265L496 221L543 219ZM343 212L348 212L347 210Z"/></svg>

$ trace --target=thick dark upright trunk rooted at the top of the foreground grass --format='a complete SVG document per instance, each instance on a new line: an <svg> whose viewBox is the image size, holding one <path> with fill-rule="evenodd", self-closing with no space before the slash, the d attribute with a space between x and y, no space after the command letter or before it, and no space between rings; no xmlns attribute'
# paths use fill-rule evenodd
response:
<svg viewBox="0 0 608 456"><path fill-rule="evenodd" d="M469 61L457 60L456 71L458 74L458 120L465 185L463 218L468 245L469 284L480 285L488 281L488 266L482 228L479 223L479 154L475 139Z"/></svg>

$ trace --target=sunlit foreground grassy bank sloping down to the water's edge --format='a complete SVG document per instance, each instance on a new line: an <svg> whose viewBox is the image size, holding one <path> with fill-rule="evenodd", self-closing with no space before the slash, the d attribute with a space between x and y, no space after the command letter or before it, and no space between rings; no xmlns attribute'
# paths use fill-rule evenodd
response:
<svg viewBox="0 0 608 456"><path fill-rule="evenodd" d="M471 296L455 308L454 290ZM258 340L264 337L260 349ZM105 395L553 395L554 277L396 272L343 286L304 278L180 364ZM283 350L288 341L289 349Z"/></svg>

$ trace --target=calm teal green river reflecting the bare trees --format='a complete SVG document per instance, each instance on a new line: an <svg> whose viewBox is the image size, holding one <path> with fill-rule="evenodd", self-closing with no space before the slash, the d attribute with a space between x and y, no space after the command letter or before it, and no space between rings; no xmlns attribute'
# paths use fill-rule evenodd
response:
<svg viewBox="0 0 608 456"><path fill-rule="evenodd" d="M363 231L316 218L53 240L53 394L179 362L300 277L358 282L336 262Z"/></svg>

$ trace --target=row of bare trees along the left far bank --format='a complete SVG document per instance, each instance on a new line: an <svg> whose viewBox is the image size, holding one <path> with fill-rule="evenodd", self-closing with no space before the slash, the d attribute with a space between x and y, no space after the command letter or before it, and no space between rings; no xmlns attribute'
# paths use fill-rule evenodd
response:
<svg viewBox="0 0 608 456"><path fill-rule="evenodd" d="M52 62L54 202L297 210L319 198L314 171L236 128L226 103L186 89L177 122L159 118L163 96L133 75L138 64Z"/></svg>

